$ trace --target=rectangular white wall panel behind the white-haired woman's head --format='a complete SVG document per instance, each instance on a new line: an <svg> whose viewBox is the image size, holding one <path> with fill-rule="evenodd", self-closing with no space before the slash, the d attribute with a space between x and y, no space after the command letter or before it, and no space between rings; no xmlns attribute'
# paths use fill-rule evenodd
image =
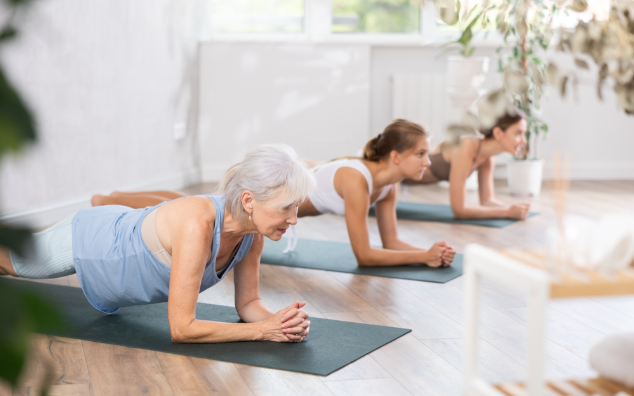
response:
<svg viewBox="0 0 634 396"><path fill-rule="evenodd" d="M262 143L327 161L367 140L367 45L210 42L201 46L200 70L204 180L220 180Z"/></svg>

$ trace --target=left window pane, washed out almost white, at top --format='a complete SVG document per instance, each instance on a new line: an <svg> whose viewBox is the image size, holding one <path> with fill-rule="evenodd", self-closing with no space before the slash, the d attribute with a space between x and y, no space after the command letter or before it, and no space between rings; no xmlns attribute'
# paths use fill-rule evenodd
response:
<svg viewBox="0 0 634 396"><path fill-rule="evenodd" d="M217 33L301 33L304 0L215 0L211 26Z"/></svg>

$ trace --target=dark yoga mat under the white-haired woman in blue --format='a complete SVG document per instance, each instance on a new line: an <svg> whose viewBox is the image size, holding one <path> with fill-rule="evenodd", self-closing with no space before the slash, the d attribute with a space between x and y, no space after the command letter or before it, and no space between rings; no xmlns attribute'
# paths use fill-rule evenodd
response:
<svg viewBox="0 0 634 396"><path fill-rule="evenodd" d="M79 288L18 280L12 283L34 288L64 315L64 331L42 334L308 374L328 375L411 331L310 318L310 334L301 343L175 344L167 323L167 303L121 308L105 315L88 303ZM227 323L240 321L233 307L221 305L199 303L196 316Z"/></svg>

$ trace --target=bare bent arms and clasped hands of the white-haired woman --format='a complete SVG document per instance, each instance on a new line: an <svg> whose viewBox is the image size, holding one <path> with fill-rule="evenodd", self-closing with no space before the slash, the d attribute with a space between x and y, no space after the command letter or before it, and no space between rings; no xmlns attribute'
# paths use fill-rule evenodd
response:
<svg viewBox="0 0 634 396"><path fill-rule="evenodd" d="M263 246L261 236L255 238L253 252L236 265L237 309L243 320L253 323L222 323L196 318L198 292L211 254L215 210L209 200L198 197L169 205L163 213L172 246L167 303L172 340L178 343L303 340L310 323L305 323L308 315L301 311L301 303L296 302L276 314L261 303L257 289L259 255ZM286 335L284 329L290 334Z"/></svg>

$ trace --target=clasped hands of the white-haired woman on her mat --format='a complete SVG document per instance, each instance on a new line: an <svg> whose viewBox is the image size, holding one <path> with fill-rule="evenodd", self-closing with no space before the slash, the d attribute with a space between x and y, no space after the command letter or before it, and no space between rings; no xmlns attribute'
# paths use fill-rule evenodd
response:
<svg viewBox="0 0 634 396"><path fill-rule="evenodd" d="M308 336L310 320L308 313L301 308L306 302L295 301L288 307L277 311L264 321L263 332L265 341L302 342Z"/></svg>

